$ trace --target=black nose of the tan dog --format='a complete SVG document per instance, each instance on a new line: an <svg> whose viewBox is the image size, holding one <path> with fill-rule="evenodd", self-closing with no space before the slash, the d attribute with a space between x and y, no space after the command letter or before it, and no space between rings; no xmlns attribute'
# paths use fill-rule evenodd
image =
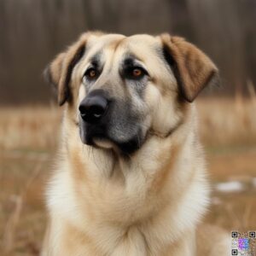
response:
<svg viewBox="0 0 256 256"><path fill-rule="evenodd" d="M79 111L82 119L90 124L99 121L108 109L108 100L104 96L87 96L80 103Z"/></svg>

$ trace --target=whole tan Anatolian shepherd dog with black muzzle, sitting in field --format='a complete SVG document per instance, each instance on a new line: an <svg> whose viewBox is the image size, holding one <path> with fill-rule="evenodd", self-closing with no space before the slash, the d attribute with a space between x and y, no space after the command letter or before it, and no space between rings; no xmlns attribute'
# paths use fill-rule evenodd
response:
<svg viewBox="0 0 256 256"><path fill-rule="evenodd" d="M207 55L169 34L87 32L45 73L65 111L42 255L229 254L224 233L200 227L193 101L218 75Z"/></svg>

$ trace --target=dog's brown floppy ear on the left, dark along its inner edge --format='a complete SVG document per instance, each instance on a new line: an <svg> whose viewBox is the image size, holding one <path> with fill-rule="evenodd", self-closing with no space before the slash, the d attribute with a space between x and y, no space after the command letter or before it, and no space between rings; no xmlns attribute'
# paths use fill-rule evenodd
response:
<svg viewBox="0 0 256 256"><path fill-rule="evenodd" d="M84 55L87 38L88 34L83 34L67 51L57 55L54 61L44 70L45 79L49 84L53 84L58 92L58 103L60 106L72 100L70 79L73 67Z"/></svg>

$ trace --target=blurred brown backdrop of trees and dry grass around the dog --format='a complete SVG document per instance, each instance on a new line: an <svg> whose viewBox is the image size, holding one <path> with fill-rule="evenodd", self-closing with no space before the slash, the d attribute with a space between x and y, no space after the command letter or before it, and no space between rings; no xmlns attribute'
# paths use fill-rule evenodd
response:
<svg viewBox="0 0 256 256"><path fill-rule="evenodd" d="M212 57L222 84L195 101L212 183L205 221L256 230L255 25L255 0L0 0L0 255L39 255L62 113L42 73L95 29L170 32Z"/></svg>

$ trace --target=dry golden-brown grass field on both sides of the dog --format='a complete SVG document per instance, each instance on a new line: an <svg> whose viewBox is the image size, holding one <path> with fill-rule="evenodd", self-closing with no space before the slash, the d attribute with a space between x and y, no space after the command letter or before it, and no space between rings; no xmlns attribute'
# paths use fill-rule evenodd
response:
<svg viewBox="0 0 256 256"><path fill-rule="evenodd" d="M256 230L256 101L205 98L197 105L212 180L206 220L226 230ZM1 255L38 255L60 125L57 107L0 109Z"/></svg>

